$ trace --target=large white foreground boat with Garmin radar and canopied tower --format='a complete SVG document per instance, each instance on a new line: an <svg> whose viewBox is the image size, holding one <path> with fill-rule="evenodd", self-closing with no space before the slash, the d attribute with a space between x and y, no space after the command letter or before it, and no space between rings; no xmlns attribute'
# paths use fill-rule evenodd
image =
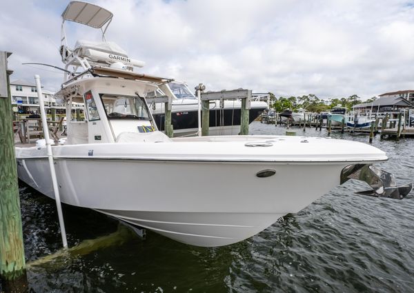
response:
<svg viewBox="0 0 414 293"><path fill-rule="evenodd" d="M112 14L74 1L62 17L102 28ZM131 71L141 62L106 52L108 47L62 45L66 70L82 71L66 74L56 94L68 114L66 143L52 146L63 203L183 243L228 245L302 210L339 183L358 179L354 171L362 172L366 164L387 159L371 145L335 139L170 139L157 130L145 99L149 92L166 90L169 79ZM86 121L70 117L77 101L85 105ZM16 148L16 156L19 179L54 199L46 147ZM375 196L390 195L378 186ZM400 192L395 190L393 196Z"/></svg>

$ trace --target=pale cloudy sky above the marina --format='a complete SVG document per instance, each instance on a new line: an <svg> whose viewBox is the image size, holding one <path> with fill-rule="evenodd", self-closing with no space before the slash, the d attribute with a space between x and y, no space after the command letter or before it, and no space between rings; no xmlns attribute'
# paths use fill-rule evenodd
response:
<svg viewBox="0 0 414 293"><path fill-rule="evenodd" d="M106 39L146 62L138 72L186 81L191 90L246 88L276 97L362 100L414 90L414 1L91 0L114 17ZM69 1L1 0L0 50L11 79L59 90L61 13ZM99 30L67 23L69 46Z"/></svg>

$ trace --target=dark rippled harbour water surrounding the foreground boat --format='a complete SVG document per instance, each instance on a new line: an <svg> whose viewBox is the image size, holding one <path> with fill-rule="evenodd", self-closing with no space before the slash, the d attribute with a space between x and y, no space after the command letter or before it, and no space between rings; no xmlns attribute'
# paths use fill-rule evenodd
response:
<svg viewBox="0 0 414 293"><path fill-rule="evenodd" d="M285 130L250 125L253 134ZM326 137L326 130L305 133ZM366 135L331 136L368 141ZM413 181L414 140L376 137L373 145L387 152L389 161L380 165L398 183ZM148 231L146 240L134 235L30 267L28 281L34 292L414 292L414 194L402 201L354 194L366 189L348 181L234 245L193 247ZM30 263L59 250L61 236L55 201L23 184L20 194ZM63 214L70 246L117 230L117 221L92 210L64 205Z"/></svg>

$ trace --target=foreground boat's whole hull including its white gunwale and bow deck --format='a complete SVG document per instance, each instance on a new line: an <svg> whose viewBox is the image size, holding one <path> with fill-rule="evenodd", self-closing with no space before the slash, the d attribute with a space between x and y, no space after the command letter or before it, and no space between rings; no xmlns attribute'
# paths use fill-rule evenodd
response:
<svg viewBox="0 0 414 293"><path fill-rule="evenodd" d="M320 138L155 142L53 147L61 201L183 243L228 245L326 194L346 165L386 159L370 145ZM19 179L54 199L46 148L16 148L16 156ZM266 170L273 175L257 176Z"/></svg>

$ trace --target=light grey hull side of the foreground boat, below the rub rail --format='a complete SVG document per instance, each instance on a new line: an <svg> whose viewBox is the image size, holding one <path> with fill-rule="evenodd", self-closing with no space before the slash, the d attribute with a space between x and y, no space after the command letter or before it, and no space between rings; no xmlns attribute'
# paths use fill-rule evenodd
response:
<svg viewBox="0 0 414 293"><path fill-rule="evenodd" d="M54 199L47 159L18 162L19 178ZM60 159L55 168L63 203L92 208L183 243L220 246L247 239L279 217L302 210L339 184L345 166ZM276 170L275 176L255 176L269 168ZM317 187L309 190L315 181Z"/></svg>

